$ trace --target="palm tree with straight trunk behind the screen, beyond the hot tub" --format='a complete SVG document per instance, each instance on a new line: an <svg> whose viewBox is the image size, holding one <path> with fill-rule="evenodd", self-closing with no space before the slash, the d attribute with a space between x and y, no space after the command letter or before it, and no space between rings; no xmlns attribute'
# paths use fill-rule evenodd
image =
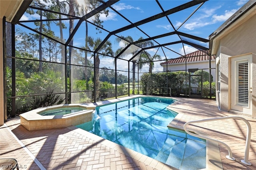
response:
<svg viewBox="0 0 256 170"><path fill-rule="evenodd" d="M88 50L90 51L95 51L96 48L98 48L98 46L100 45L100 43L102 42L102 40L100 38L96 38L94 39L93 37L88 37L87 39L87 47ZM95 98L96 100L98 100L99 98L99 90L100 89L100 56L105 57L105 55L111 55L113 56L114 53L112 51L112 44L110 41L106 41L106 43L104 43L104 45L102 45L102 47L100 48L100 50L98 51L98 53L94 55L92 55L92 57L94 57L94 68L95 68L95 72L94 72L94 87L96 89L96 94Z"/></svg>

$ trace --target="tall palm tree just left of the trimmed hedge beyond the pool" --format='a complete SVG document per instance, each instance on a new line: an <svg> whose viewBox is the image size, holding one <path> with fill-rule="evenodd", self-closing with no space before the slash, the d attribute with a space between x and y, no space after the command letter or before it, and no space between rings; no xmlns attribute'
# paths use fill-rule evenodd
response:
<svg viewBox="0 0 256 170"><path fill-rule="evenodd" d="M141 41L141 40L143 40L143 37L140 37L137 41ZM116 42L118 42L118 43L122 42L127 46L129 43L134 42L134 40L132 39L131 36L127 36L127 37L121 36L121 37L116 38ZM149 47L149 46L154 45L154 43L152 41L142 41L140 43L136 43L136 45L140 48L145 48L145 47ZM125 47L121 47L121 48L117 49L116 50L116 55L118 55L124 48ZM139 50L140 50L139 48L134 50L134 51L131 51L131 52L129 52L129 50L126 50L126 51L124 51L124 53L122 53L120 55L120 58L125 57L129 54L135 55L136 53L138 53ZM148 53L146 51L142 51L140 54L138 54L140 56L139 59L132 61L132 94L134 94L134 90L135 90L135 68L136 68L136 64L139 63L138 64L138 69L141 70L143 65L144 65L141 62L144 60L144 57L147 54Z"/></svg>

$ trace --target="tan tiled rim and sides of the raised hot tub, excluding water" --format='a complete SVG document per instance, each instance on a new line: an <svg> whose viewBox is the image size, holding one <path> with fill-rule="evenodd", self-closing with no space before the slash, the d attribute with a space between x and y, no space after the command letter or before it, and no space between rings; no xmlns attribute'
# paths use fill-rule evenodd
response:
<svg viewBox="0 0 256 170"><path fill-rule="evenodd" d="M20 124L28 131L42 130L42 129L56 129L69 127L71 125L79 125L84 122L92 121L92 115L95 107L90 107L87 110L79 111L76 113L70 113L67 115L47 115L42 116L38 112L46 109L54 109L58 107L85 107L80 104L62 104L50 107L42 107L20 114Z"/></svg>

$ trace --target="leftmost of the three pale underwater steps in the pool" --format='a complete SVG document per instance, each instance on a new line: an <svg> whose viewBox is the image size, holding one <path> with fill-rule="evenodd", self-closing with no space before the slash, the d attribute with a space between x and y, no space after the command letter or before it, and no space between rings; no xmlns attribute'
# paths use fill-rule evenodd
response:
<svg viewBox="0 0 256 170"><path fill-rule="evenodd" d="M155 159L161 162L166 162L174 144L175 141L168 137Z"/></svg>

